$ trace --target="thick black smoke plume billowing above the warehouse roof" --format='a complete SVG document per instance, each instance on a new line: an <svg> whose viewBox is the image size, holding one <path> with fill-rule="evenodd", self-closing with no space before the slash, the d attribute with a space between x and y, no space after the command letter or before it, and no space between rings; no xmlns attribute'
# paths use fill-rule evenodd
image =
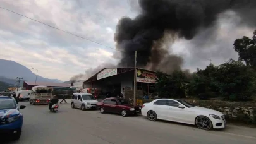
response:
<svg viewBox="0 0 256 144"><path fill-rule="evenodd" d="M134 19L123 17L116 26L114 40L117 49L123 51L118 66L134 66L137 51L138 67L181 69L182 57L169 55L163 47L168 42L163 40L166 35L193 39L200 30L215 25L217 16L228 10L238 13L248 25L255 25L256 21L256 0L139 0L138 3L140 14Z"/></svg>

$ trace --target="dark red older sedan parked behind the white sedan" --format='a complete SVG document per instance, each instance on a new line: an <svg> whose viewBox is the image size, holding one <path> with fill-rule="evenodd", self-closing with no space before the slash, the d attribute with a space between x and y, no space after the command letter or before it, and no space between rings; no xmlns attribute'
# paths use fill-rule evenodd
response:
<svg viewBox="0 0 256 144"><path fill-rule="evenodd" d="M139 105L129 104L128 99L121 99L116 97L106 98L97 103L97 107L103 114L104 112L113 112L121 114L122 116L128 116L129 114L136 115L140 113L142 107Z"/></svg>

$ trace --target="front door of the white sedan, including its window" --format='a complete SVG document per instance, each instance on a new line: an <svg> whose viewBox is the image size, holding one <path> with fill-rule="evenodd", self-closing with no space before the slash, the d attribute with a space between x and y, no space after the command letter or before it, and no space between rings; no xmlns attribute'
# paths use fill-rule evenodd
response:
<svg viewBox="0 0 256 144"><path fill-rule="evenodd" d="M181 104L174 100L167 100L167 102L168 102L168 109L169 109L168 119L170 119L170 121L188 123L188 111L186 107L182 105L184 108L183 109L179 108L178 106Z"/></svg>

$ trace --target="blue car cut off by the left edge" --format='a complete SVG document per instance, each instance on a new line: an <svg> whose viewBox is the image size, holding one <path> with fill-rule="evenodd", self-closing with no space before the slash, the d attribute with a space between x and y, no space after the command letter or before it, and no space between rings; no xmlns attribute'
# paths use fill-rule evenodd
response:
<svg viewBox="0 0 256 144"><path fill-rule="evenodd" d="M18 140L21 136L23 125L23 115L20 109L26 106L18 107L13 97L0 96L0 136Z"/></svg>

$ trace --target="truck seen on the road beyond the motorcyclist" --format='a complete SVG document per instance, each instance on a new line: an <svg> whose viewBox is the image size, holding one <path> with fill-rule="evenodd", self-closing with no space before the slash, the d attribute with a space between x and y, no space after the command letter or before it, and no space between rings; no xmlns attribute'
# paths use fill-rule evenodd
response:
<svg viewBox="0 0 256 144"><path fill-rule="evenodd" d="M29 103L33 105L49 104L52 98L52 87L35 86L32 87Z"/></svg>

